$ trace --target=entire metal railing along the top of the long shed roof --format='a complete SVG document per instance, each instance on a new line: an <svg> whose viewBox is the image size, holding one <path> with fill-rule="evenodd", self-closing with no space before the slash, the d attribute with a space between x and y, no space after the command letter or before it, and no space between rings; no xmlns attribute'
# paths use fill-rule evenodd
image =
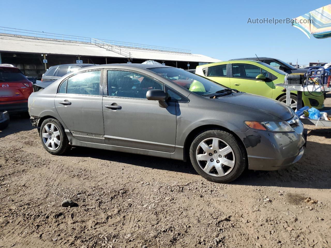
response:
<svg viewBox="0 0 331 248"><path fill-rule="evenodd" d="M94 38L83 37L83 36L55 34L55 33L43 32L43 31L40 32L40 31L32 31L32 30L25 30L25 29L19 29L19 28L11 28L11 27L1 27L0 26L0 33L12 34L12 35L17 35L17 36L28 36L28 37L34 37L34 38L46 38L46 39L53 39L53 40L78 41L78 42L93 43L93 44L95 44L95 43L92 42L92 40L99 40L100 42L104 42L104 43L107 43L107 44L113 45L113 46L191 54L191 50L186 50L186 49L152 46L152 45L124 42L124 41L115 41L115 40L94 39Z"/></svg>

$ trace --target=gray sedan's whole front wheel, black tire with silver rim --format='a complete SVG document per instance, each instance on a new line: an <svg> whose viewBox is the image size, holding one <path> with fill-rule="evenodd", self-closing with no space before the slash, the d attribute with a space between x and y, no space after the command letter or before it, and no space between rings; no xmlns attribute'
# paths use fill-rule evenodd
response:
<svg viewBox="0 0 331 248"><path fill-rule="evenodd" d="M220 129L199 133L191 144L190 159L200 176L216 183L237 179L247 164L244 145Z"/></svg>

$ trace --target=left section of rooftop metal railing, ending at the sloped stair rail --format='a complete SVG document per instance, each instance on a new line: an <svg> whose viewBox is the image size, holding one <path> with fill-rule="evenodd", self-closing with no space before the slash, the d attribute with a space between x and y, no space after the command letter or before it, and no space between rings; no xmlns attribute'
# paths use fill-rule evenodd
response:
<svg viewBox="0 0 331 248"><path fill-rule="evenodd" d="M29 36L34 38L46 38L46 39L54 39L54 40L67 40L67 41L79 41L79 42L91 43L91 38L88 37L66 35L66 34L54 34L54 33L39 32L39 31L10 28L10 27L0 27L0 33Z"/></svg>

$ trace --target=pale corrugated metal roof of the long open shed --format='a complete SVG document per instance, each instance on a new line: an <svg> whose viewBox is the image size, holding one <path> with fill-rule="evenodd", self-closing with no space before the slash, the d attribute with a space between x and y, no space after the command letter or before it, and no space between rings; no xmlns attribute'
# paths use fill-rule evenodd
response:
<svg viewBox="0 0 331 248"><path fill-rule="evenodd" d="M130 52L134 59L187 61L187 62L220 62L220 60L201 54L174 53L136 48L121 48ZM57 55L96 56L126 58L118 53L108 51L92 43L59 41L15 35L0 35L0 52L46 53Z"/></svg>

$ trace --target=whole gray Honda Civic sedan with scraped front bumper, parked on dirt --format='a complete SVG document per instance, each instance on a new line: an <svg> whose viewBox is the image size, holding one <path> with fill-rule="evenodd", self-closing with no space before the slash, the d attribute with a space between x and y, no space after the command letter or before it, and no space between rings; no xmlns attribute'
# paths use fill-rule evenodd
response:
<svg viewBox="0 0 331 248"><path fill-rule="evenodd" d="M213 182L233 181L247 166L286 168L306 144L301 121L284 103L169 66L82 68L31 94L28 107L53 155L85 146L190 160Z"/></svg>

